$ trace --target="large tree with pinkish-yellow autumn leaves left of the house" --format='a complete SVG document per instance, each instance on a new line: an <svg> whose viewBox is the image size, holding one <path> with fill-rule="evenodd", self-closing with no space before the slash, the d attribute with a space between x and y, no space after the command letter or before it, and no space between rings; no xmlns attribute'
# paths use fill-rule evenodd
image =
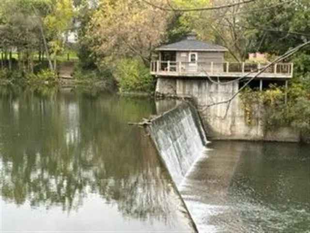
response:
<svg viewBox="0 0 310 233"><path fill-rule="evenodd" d="M156 4L168 6L167 1ZM138 56L148 64L152 51L165 42L172 14L142 0L101 0L86 34L100 60L107 56L112 60Z"/></svg>

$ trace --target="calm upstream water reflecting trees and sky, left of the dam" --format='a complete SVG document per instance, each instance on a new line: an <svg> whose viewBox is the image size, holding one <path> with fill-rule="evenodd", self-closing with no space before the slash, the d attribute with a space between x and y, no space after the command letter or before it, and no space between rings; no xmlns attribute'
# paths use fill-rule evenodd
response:
<svg viewBox="0 0 310 233"><path fill-rule="evenodd" d="M57 230L80 230L65 224L77 224L72 211L83 210L79 216L83 218L98 215L95 203L104 202L100 214L115 212L114 220L92 219L87 230L191 231L182 201L149 138L127 126L128 121L152 114L154 107L148 100L110 95L98 99L71 92L53 98L3 95L0 185L2 221L7 222L3 230L17 229L9 223L17 220L18 213L24 213L18 229L56 230L56 224L29 225L30 219L44 221L32 217L42 207L51 222L62 223ZM62 209L57 215L66 213L61 220L57 208Z"/></svg>

